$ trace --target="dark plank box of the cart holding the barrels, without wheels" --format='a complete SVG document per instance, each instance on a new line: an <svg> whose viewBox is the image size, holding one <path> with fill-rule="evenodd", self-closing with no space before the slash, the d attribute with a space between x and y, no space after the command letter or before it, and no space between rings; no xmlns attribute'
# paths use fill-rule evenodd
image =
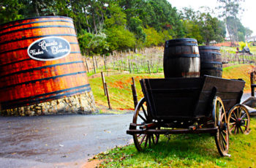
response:
<svg viewBox="0 0 256 168"><path fill-rule="evenodd" d="M140 80L148 112L157 120L206 117L214 96L221 97L227 111L240 102L244 84L212 76Z"/></svg>

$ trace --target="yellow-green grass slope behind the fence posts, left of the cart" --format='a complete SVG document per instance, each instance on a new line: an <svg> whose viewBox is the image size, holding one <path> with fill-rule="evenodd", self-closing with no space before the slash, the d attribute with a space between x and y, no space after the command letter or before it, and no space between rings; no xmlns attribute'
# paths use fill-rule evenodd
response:
<svg viewBox="0 0 256 168"><path fill-rule="evenodd" d="M139 80L142 78L157 78L164 77L163 75L111 75L105 76L105 81L108 84L110 95L110 103L115 110L134 110L132 99L132 77L135 78L135 85L138 91L138 99L143 97ZM89 80L91 90L94 93L96 104L108 107L107 98L104 94L101 77L92 78Z"/></svg>

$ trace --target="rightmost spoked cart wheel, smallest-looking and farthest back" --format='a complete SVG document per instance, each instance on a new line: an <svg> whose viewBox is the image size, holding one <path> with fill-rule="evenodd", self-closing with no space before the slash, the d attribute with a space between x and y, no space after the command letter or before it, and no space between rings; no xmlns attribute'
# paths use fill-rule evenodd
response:
<svg viewBox="0 0 256 168"><path fill-rule="evenodd" d="M230 134L249 134L249 112L242 104L236 104L228 112L228 129Z"/></svg>

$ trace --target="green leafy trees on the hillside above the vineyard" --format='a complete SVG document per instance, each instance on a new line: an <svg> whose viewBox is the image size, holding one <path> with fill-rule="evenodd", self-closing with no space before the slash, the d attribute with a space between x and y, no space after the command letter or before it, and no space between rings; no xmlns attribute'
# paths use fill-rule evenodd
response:
<svg viewBox="0 0 256 168"><path fill-rule="evenodd" d="M227 17L235 17L239 0L218 0ZM230 4L231 2L233 4ZM235 3L236 2L236 3ZM231 11L236 9L236 11ZM238 10L238 11L237 11ZM185 8L178 12L167 0L3 0L0 23L43 15L63 15L74 20L81 50L86 55L105 54L113 50L135 50L163 45L168 39L191 37L202 44L221 42L225 27L209 13ZM229 18L232 21L232 18ZM236 24L238 39L252 31ZM229 31L230 32L230 31ZM235 31L234 31L235 32Z"/></svg>

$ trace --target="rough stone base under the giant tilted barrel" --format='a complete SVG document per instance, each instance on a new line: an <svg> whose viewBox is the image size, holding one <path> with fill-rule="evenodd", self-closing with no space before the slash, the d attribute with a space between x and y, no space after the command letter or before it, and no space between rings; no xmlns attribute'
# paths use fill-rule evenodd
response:
<svg viewBox="0 0 256 168"><path fill-rule="evenodd" d="M97 112L94 96L91 91L86 93L56 99L50 102L32 104L25 107L15 107L13 109L0 110L2 116L31 116L31 115L56 115L56 114L91 114Z"/></svg>

